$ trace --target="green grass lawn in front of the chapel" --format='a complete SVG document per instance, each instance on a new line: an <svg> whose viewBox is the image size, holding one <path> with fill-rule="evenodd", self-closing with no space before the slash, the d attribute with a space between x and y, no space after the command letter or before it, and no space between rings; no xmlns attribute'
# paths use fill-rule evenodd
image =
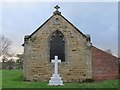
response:
<svg viewBox="0 0 120 90"><path fill-rule="evenodd" d="M48 86L48 82L25 82L22 79L22 70L2 70L2 88L118 88L118 80Z"/></svg>

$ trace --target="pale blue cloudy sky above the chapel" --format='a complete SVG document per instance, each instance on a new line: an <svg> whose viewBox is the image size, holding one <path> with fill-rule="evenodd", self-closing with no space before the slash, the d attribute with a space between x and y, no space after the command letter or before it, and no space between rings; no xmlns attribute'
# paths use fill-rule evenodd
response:
<svg viewBox="0 0 120 90"><path fill-rule="evenodd" d="M2 4L2 32L12 41L13 53L22 53L24 36L34 32L60 6L62 15L103 50L118 50L117 2L23 2Z"/></svg>

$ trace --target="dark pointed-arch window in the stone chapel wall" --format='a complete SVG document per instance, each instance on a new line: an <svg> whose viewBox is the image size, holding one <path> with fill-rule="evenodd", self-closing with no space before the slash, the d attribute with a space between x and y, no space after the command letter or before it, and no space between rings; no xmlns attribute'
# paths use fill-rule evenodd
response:
<svg viewBox="0 0 120 90"><path fill-rule="evenodd" d="M65 41L64 35L56 30L50 37L50 61L57 55L62 62L65 62Z"/></svg>

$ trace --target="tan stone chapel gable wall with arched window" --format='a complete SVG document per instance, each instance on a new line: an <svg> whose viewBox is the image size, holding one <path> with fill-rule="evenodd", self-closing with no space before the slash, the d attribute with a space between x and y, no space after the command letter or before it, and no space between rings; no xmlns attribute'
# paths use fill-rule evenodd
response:
<svg viewBox="0 0 120 90"><path fill-rule="evenodd" d="M62 61L58 73L64 82L92 79L93 46L90 36L63 17L58 6L55 8L56 11L45 23L24 38L24 80L49 81L54 72L51 59L55 55Z"/></svg>

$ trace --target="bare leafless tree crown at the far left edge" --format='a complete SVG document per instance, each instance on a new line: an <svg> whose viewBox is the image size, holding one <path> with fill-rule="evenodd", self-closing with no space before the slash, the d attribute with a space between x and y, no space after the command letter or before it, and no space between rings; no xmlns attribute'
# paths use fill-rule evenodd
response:
<svg viewBox="0 0 120 90"><path fill-rule="evenodd" d="M8 50L10 48L11 45L11 40L9 40L8 38L6 38L5 36L0 36L0 55L4 55L4 54L9 54Z"/></svg>

